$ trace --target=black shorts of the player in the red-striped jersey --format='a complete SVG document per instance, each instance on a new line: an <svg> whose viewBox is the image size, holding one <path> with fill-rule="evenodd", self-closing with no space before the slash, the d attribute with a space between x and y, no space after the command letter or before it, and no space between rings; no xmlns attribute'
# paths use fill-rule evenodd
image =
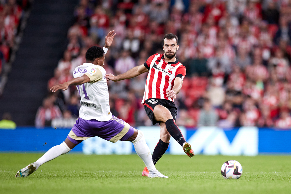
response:
<svg viewBox="0 0 291 194"><path fill-rule="evenodd" d="M148 118L152 121L152 124L159 123L160 121L155 120L154 117L154 108L158 104L168 108L168 110L171 112L173 119L176 120L177 117L177 108L174 102L166 99L159 99L159 98L150 98L145 100L145 103L143 104L143 108L145 109L146 114L148 115Z"/></svg>

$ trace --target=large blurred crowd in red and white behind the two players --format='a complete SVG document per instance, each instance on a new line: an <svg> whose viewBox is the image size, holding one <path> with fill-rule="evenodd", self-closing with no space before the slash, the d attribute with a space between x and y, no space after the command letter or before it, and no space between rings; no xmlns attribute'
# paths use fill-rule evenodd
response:
<svg viewBox="0 0 291 194"><path fill-rule="evenodd" d="M291 127L290 0L80 0L74 16L48 89L72 79L108 31L117 35L104 68L115 75L163 54L164 34L173 33L187 69L175 99L178 125ZM108 82L111 112L132 126L151 125L141 104L146 76ZM75 86L49 93L36 126L74 120L79 107Z"/></svg>

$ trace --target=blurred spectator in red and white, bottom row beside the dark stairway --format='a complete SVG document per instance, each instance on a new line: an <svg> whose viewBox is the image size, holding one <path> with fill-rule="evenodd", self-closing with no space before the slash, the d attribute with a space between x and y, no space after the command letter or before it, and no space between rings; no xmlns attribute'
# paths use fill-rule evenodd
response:
<svg viewBox="0 0 291 194"><path fill-rule="evenodd" d="M52 119L62 117L58 106L54 105L50 98L45 98L36 113L35 125L36 127L51 126Z"/></svg>

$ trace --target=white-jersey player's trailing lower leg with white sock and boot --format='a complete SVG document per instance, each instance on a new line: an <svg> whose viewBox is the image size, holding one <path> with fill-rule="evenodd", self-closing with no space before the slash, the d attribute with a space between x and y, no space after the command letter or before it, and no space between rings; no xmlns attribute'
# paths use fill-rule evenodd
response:
<svg viewBox="0 0 291 194"><path fill-rule="evenodd" d="M26 167L17 171L15 177L27 177L35 172L42 164L55 159L58 156L70 152L77 144L72 143L68 138L65 139L60 145L56 145L49 149L43 156L36 162L27 165Z"/></svg>

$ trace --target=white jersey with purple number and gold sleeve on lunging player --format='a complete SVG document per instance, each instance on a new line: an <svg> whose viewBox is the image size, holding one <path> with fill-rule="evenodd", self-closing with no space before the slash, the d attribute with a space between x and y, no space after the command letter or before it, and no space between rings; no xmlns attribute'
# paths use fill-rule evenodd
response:
<svg viewBox="0 0 291 194"><path fill-rule="evenodd" d="M109 121L112 118L112 113L109 106L105 69L100 65L84 63L74 70L74 78L84 74L90 78L90 82L77 86L81 96L80 118Z"/></svg>

